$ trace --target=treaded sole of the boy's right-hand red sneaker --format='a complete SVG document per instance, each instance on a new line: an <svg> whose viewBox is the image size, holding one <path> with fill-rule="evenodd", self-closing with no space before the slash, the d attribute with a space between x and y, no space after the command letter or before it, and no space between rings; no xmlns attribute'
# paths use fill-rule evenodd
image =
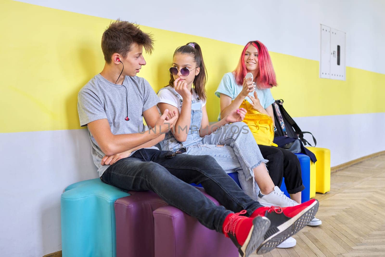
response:
<svg viewBox="0 0 385 257"><path fill-rule="evenodd" d="M313 219L318 210L318 206L318 201L315 201L287 222L282 223L278 227L270 228L268 232L266 232L268 237L258 247L257 254L266 254L267 252L270 252L288 237L291 237L300 231Z"/></svg>

